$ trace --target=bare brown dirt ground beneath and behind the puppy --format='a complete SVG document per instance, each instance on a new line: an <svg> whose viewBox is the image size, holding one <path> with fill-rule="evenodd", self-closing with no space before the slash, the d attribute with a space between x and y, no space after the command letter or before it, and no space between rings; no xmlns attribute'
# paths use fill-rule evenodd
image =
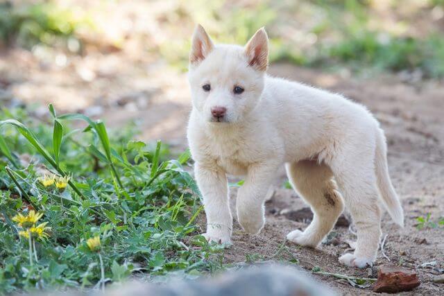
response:
<svg viewBox="0 0 444 296"><path fill-rule="evenodd" d="M142 130L141 139L162 139L173 149L186 148L190 103L185 74L151 60L127 58L122 62L121 58L121 53L106 57L97 53L90 55L89 60L71 58L64 67L56 67L18 49L1 53L1 104L37 103L34 112L38 116L46 112L42 103L52 102L58 110L101 117L112 127L136 120ZM404 295L442 295L443 284L434 284L432 278L438 273L436 270L444 268L444 227L418 229L416 218L431 214L431 220L436 222L444 216L444 83L402 76L352 78L346 71L328 74L288 64L273 65L270 73L344 94L366 105L379 119L388 139L391 178L402 198L406 218L406 226L399 229L384 214L384 251L390 263L418 270L421 286ZM307 227L307 220L298 222L284 215L304 207L296 193L282 188L284 180L282 170L275 194L266 203L266 226L259 235L243 234L234 223L233 245L225 252L226 263L246 261L246 256L252 254L277 259L274 254L285 235ZM236 188L231 192L234 204ZM289 243L286 250L306 270L319 266L326 272L368 277L370 270L339 264L338 256L350 252L346 241L354 236L348 227L335 227L333 232L334 239L319 250ZM388 259L379 252L376 266L389 263ZM423 265L433 261L433 267ZM372 294L370 288L315 277L344 295Z"/></svg>

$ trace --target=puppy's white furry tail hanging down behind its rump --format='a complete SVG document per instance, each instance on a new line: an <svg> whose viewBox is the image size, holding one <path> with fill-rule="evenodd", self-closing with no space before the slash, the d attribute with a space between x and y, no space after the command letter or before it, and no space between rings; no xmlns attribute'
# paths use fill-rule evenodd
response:
<svg viewBox="0 0 444 296"><path fill-rule="evenodd" d="M388 214L396 224L404 227L404 211L388 175L386 138L384 131L379 128L376 132L375 173L379 193Z"/></svg>

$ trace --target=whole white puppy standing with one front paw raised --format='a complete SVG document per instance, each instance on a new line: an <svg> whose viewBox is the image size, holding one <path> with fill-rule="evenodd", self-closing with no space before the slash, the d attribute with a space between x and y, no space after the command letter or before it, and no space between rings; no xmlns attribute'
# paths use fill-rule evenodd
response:
<svg viewBox="0 0 444 296"><path fill-rule="evenodd" d="M237 195L239 224L264 226L264 199L285 164L293 188L314 218L289 241L316 247L348 207L357 227L354 254L339 261L364 268L381 235L378 196L395 223L402 207L388 176L386 139L365 107L339 94L266 74L268 37L261 28L246 46L214 46L202 26L192 38L188 141L207 215L206 238L225 243L232 216L225 174L245 175Z"/></svg>

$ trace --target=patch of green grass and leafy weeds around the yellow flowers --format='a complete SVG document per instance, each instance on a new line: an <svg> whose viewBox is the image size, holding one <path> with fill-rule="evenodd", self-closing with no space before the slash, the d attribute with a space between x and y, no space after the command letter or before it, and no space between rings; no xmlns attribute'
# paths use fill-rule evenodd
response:
<svg viewBox="0 0 444 296"><path fill-rule="evenodd" d="M198 235L202 206L183 169L188 152L164 160L160 142L150 148L108 134L101 121L50 110L47 122L24 110L0 113L0 293L90 289L138 273L194 277L221 268L221 247ZM86 128L72 130L74 119ZM21 162L26 157L32 162ZM69 175L71 183L44 187L42 169ZM38 262L12 221L33 208L51 227L48 238L36 240ZM103 279L98 253L86 245L94 236L101 238Z"/></svg>

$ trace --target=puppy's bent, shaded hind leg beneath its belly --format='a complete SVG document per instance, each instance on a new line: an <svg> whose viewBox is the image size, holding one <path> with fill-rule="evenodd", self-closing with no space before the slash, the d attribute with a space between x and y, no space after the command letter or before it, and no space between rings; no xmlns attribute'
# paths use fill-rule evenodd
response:
<svg viewBox="0 0 444 296"><path fill-rule="evenodd" d="M325 164L303 160L286 164L293 188L310 205L314 217L304 232L293 230L287 239L298 245L316 247L332 230L343 211L341 194L336 190L333 173Z"/></svg>

